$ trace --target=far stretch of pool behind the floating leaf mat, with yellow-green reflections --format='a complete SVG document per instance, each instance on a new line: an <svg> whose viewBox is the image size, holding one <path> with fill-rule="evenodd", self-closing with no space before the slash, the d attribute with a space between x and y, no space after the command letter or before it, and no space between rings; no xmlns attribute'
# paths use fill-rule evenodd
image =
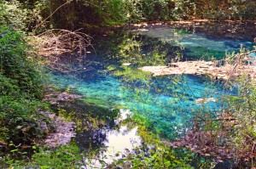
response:
<svg viewBox="0 0 256 169"><path fill-rule="evenodd" d="M253 49L255 34L254 24L145 26L96 36L95 48L105 64L166 65L173 59L222 59L225 52L237 52L241 44Z"/></svg>

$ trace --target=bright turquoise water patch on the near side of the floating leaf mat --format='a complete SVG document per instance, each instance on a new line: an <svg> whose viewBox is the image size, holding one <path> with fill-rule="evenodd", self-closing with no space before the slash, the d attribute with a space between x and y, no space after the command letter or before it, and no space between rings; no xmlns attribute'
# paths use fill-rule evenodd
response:
<svg viewBox="0 0 256 169"><path fill-rule="evenodd" d="M67 76L55 78L57 82L61 82L57 80L59 78L68 79ZM179 83L173 82L173 78L175 77L151 76L150 80L123 83L117 77L105 76L95 81L69 79L69 84L76 84L77 92L85 98L99 98L99 103L100 100L106 100L106 103L112 102L131 110L134 114L144 115L154 124L156 131L160 131L160 136L170 138L176 134L176 128L183 127L183 119L191 115L190 111L200 107L195 104L195 99L218 98L218 93L222 93L200 77L182 76L181 79L177 79ZM205 88L209 88L210 96L207 96ZM212 110L217 109L217 104L209 103L209 107Z"/></svg>

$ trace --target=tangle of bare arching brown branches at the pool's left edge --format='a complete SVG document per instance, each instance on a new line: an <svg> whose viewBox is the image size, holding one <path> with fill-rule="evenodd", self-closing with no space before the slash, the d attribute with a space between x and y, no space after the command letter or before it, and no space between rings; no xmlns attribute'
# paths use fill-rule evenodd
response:
<svg viewBox="0 0 256 169"><path fill-rule="evenodd" d="M53 29L37 36L39 54L49 62L50 70L63 73L84 71L90 62L86 60L87 48L92 37L78 31Z"/></svg>

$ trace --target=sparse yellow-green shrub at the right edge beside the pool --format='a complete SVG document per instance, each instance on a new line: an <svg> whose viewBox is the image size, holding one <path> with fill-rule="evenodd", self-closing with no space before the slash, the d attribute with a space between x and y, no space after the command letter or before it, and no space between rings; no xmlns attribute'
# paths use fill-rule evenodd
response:
<svg viewBox="0 0 256 169"><path fill-rule="evenodd" d="M255 144L256 138L256 88L248 76L238 81L239 93L236 98L230 97L227 102L236 116L232 142L236 149L248 149ZM246 143L246 144L245 144Z"/></svg>

